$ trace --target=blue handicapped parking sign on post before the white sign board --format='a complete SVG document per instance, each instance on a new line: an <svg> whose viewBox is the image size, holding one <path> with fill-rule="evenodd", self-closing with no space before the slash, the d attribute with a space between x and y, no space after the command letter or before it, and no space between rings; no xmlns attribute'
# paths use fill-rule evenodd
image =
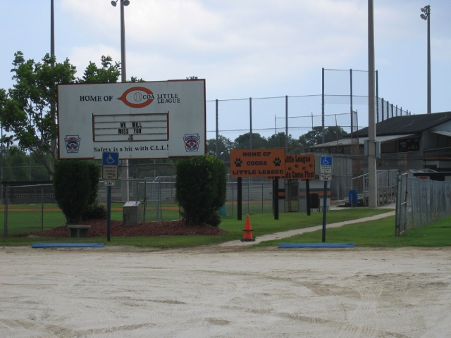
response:
<svg viewBox="0 0 451 338"><path fill-rule="evenodd" d="M101 178L106 185L106 240L111 237L111 186L118 179L119 153L101 154Z"/></svg>

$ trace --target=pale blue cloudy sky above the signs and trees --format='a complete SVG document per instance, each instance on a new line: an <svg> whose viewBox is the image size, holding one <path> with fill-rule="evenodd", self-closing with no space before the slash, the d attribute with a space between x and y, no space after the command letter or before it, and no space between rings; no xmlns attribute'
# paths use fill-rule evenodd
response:
<svg viewBox="0 0 451 338"><path fill-rule="evenodd" d="M102 55L121 61L119 6L110 0L54 2L58 61L69 58L78 76ZM420 8L428 4L432 110L450 111L451 1L374 1L379 96L414 114L426 113L427 23ZM16 51L35 60L50 51L50 0L1 0L0 15L0 87L7 89ZM321 68L368 69L367 18L365 0L130 0L127 75L204 78L207 100L321 94ZM334 74L326 73L326 93L347 94L349 73ZM357 73L354 94L366 95L366 86L367 73ZM310 113L321 114L321 106ZM274 115L284 114L253 119L271 127ZM241 118L222 115L220 128L248 127L249 117ZM364 124L367 116L359 119ZM208 113L211 126L214 115Z"/></svg>

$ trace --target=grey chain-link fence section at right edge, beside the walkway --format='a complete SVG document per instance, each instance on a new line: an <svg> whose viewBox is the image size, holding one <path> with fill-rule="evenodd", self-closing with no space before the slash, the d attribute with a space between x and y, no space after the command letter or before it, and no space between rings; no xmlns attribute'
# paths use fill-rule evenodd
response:
<svg viewBox="0 0 451 338"><path fill-rule="evenodd" d="M451 215L451 182L397 177L396 231L401 234Z"/></svg>

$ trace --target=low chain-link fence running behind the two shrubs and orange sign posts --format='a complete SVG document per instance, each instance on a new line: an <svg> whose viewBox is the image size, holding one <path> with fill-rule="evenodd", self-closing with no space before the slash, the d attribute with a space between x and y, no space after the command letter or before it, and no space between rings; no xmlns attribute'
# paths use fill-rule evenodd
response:
<svg viewBox="0 0 451 338"><path fill-rule="evenodd" d="M121 181L111 187L111 218L122 219ZM140 201L143 208L143 220L175 220L180 218L180 208L175 202L175 176L129 179L130 201ZM271 213L272 181L242 182L242 211L249 213ZM53 184L14 183L1 187L3 208L0 207L0 227L3 225L4 237L42 232L53 227L66 225L66 218L54 199ZM99 181L97 201L106 204L106 187ZM220 210L221 215L237 215L237 182L227 183L226 204ZM2 224L3 223L3 224ZM39 234L37 234L39 236Z"/></svg>

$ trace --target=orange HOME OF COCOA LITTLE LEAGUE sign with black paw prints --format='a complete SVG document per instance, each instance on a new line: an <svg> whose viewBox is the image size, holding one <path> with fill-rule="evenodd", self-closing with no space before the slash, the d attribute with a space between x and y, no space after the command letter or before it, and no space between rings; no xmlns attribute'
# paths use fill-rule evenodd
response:
<svg viewBox="0 0 451 338"><path fill-rule="evenodd" d="M285 177L285 149L232 149L230 175Z"/></svg>

